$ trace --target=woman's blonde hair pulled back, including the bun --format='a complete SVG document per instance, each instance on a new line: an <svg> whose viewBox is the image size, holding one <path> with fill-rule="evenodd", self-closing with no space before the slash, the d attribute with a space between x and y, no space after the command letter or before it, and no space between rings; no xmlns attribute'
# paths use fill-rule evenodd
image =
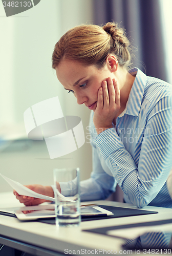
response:
<svg viewBox="0 0 172 256"><path fill-rule="evenodd" d="M125 30L117 23L107 23L103 27L80 25L70 29L56 43L52 67L55 69L62 59L70 59L101 68L109 54L117 58L119 66L126 69L130 66L130 41Z"/></svg>

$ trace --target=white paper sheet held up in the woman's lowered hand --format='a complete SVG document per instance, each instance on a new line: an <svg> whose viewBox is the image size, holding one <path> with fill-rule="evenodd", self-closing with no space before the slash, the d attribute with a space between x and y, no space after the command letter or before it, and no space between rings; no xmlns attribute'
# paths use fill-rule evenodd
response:
<svg viewBox="0 0 172 256"><path fill-rule="evenodd" d="M19 195L27 196L27 197L34 197L34 198L40 198L40 199L45 199L45 200L50 200L50 201L55 201L55 198L53 197L48 197L44 196L41 194L36 193L35 191L29 189L28 187L25 187L24 185L20 184L17 181L11 180L7 178L6 176L0 174L7 182L8 184L15 190ZM61 197L61 201L70 201L70 202L75 202L73 197L65 197L58 193L58 195Z"/></svg>

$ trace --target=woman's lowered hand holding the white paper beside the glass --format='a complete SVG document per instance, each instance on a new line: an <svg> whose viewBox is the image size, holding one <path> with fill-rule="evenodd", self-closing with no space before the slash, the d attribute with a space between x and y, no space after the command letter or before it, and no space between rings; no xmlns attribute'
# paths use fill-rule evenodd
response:
<svg viewBox="0 0 172 256"><path fill-rule="evenodd" d="M54 197L54 191L51 186L42 186L42 185L36 184L36 185L26 185L26 187L30 188L31 190L35 191L38 194ZM16 199L18 199L20 203L23 203L26 206L38 205L44 202L50 202L44 199L18 195L18 193L15 190L13 190L13 194L16 196Z"/></svg>

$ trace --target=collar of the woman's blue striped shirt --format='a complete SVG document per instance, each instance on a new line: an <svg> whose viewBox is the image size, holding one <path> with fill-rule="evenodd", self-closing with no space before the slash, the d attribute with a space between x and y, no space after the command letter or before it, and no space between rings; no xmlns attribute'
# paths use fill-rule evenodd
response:
<svg viewBox="0 0 172 256"><path fill-rule="evenodd" d="M139 69L134 68L128 71L131 75L136 75L132 89L130 91L125 114L131 116L138 116L143 99L144 89L146 87L146 75ZM121 113L121 116L123 113Z"/></svg>

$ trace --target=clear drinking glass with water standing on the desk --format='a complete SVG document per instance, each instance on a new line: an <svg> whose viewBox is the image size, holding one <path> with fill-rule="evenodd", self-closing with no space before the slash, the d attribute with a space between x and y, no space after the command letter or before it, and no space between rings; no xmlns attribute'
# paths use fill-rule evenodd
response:
<svg viewBox="0 0 172 256"><path fill-rule="evenodd" d="M79 168L54 169L54 197L57 227L80 224Z"/></svg>

